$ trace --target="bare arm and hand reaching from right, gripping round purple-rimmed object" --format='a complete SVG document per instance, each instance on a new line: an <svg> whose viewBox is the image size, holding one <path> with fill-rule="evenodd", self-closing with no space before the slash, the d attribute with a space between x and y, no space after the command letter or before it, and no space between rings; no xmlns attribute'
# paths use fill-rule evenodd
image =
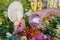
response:
<svg viewBox="0 0 60 40"><path fill-rule="evenodd" d="M40 17L40 23L42 22L43 18L47 15L47 14L54 14L56 16L60 16L60 9L54 9L54 8L49 8L49 9L44 9L41 11L37 11L37 12L33 12L30 15L29 20L33 19L34 15L38 15Z"/></svg>

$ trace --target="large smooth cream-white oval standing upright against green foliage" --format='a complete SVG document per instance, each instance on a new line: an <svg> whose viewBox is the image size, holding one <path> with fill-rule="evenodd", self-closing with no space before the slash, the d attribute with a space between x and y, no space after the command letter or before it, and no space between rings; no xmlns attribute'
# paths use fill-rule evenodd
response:
<svg viewBox="0 0 60 40"><path fill-rule="evenodd" d="M9 5L8 17L12 22L20 21L23 18L23 6L20 2L14 1Z"/></svg>

